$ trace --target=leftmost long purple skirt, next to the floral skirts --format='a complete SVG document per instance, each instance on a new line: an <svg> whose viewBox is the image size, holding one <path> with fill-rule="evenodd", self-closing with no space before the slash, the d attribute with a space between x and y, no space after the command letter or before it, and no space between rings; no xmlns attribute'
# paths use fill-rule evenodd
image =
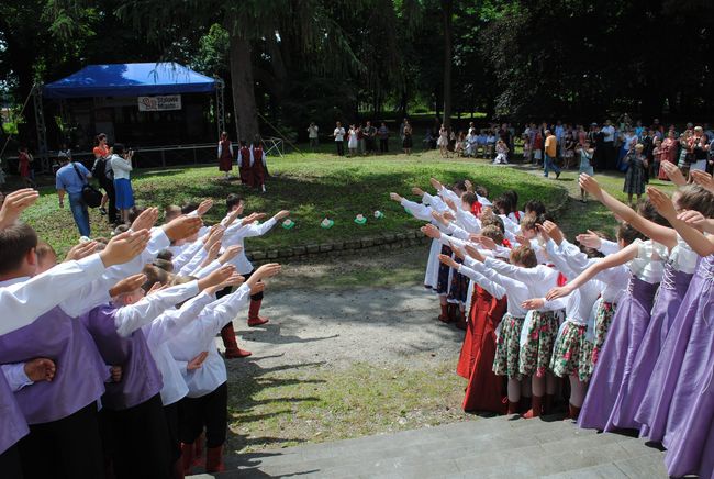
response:
<svg viewBox="0 0 714 479"><path fill-rule="evenodd" d="M658 285L629 277L627 293L617 304L610 332L595 364L578 425L583 428L610 431L612 412L621 389L629 381L635 355L639 348Z"/></svg>

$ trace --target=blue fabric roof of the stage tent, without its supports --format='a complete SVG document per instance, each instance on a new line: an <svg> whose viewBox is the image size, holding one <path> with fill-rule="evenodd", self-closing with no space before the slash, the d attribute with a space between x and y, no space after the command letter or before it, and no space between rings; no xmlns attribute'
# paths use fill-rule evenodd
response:
<svg viewBox="0 0 714 479"><path fill-rule="evenodd" d="M88 65L45 85L46 98L141 97L208 93L216 80L176 63Z"/></svg>

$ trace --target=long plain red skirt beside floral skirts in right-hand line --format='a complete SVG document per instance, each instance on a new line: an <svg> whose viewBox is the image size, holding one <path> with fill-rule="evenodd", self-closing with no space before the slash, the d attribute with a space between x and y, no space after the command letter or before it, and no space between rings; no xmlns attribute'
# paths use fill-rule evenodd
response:
<svg viewBox="0 0 714 479"><path fill-rule="evenodd" d="M467 330L467 336L471 336L470 350L466 354L461 352L465 363L461 368L469 371L464 411L505 413L503 378L493 372L493 358L495 357L495 328L505 314L506 307L505 297L497 300L477 286Z"/></svg>

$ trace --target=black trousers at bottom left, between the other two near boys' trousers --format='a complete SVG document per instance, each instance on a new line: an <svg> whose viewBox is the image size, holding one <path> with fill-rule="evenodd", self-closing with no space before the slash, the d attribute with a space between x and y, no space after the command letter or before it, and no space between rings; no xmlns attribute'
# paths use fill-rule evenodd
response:
<svg viewBox="0 0 714 479"><path fill-rule="evenodd" d="M118 479L172 477L174 458L160 394L122 411L100 412L104 447Z"/></svg>

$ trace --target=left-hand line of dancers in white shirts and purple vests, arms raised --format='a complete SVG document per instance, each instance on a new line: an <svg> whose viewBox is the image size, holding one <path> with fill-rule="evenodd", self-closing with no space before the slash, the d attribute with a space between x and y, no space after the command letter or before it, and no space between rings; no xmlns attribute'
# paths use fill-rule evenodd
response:
<svg viewBox="0 0 714 479"><path fill-rule="evenodd" d="M281 211L243 215L231 194L211 227L207 200L135 211L109 241L51 245L19 221L38 198L24 189L0 209L0 476L182 478L224 469L227 371L215 336L238 354L232 321L258 316L265 280L243 239ZM126 230L126 231L123 231ZM248 304L250 307L248 308ZM225 328L228 328L227 337Z"/></svg>

